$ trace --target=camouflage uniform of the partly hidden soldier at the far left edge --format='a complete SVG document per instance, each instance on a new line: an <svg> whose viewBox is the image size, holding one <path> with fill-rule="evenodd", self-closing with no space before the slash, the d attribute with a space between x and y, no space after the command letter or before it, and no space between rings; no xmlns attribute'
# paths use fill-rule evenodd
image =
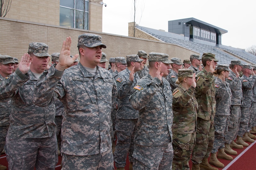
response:
<svg viewBox="0 0 256 170"><path fill-rule="evenodd" d="M0 74L0 86L1 82L6 78ZM9 129L9 114L11 112L11 100L0 102L0 152L5 146L5 138Z"/></svg>

